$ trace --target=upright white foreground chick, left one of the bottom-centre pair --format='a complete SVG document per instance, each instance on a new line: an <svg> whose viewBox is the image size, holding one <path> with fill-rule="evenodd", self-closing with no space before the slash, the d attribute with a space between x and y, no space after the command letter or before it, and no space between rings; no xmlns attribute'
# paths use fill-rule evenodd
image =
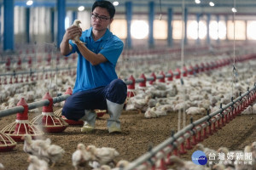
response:
<svg viewBox="0 0 256 170"><path fill-rule="evenodd" d="M90 161L90 152L85 150L84 144L78 144L77 150L73 152L72 162L75 170L79 167L85 167L88 161Z"/></svg>

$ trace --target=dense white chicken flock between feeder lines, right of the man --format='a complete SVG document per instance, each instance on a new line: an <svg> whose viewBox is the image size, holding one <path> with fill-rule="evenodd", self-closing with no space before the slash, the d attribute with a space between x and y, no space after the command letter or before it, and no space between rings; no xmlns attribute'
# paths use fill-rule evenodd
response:
<svg viewBox="0 0 256 170"><path fill-rule="evenodd" d="M183 85L180 80L172 82L154 82L145 89L139 87L135 96L128 98L125 105L126 111L139 111L146 118L166 116L168 113L184 111L187 115L207 115L217 111L220 105L227 105L231 97L236 99L239 93L246 92L248 84L255 81L255 76L248 77L246 70L241 71L244 82L234 82L224 69L222 73L213 72L209 75L201 74L200 77L184 77ZM233 94L231 92L233 91ZM256 114L256 105L250 105L241 114Z"/></svg>

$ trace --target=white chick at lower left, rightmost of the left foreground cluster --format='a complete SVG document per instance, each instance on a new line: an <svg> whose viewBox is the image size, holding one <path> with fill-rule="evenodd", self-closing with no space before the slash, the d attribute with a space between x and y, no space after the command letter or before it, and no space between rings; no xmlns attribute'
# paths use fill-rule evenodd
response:
<svg viewBox="0 0 256 170"><path fill-rule="evenodd" d="M55 166L55 163L57 161L60 161L63 154L65 153L65 150L61 148L61 146L56 144L44 144L43 141L38 143L38 146L40 147L39 150L39 157L42 157L42 159L50 161L52 163L51 167Z"/></svg>

